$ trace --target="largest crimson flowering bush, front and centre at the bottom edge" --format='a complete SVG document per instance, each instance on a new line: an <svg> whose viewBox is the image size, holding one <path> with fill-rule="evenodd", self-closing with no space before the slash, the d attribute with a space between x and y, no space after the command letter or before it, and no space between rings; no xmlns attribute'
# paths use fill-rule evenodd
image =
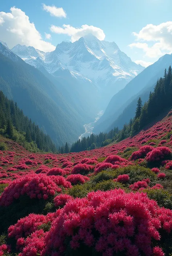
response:
<svg viewBox="0 0 172 256"><path fill-rule="evenodd" d="M82 253L83 243L88 255L95 250L103 256L150 256L159 252L152 240L161 239L160 228L171 232L172 211L160 208L146 194L121 189L90 192L87 198L66 203L45 237L42 255L63 256L69 248Z"/></svg>

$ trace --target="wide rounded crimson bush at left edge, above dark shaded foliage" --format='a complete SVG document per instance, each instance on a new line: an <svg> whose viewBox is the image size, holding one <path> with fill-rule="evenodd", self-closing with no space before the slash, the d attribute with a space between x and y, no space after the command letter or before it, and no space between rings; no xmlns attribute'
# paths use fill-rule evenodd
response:
<svg viewBox="0 0 172 256"><path fill-rule="evenodd" d="M30 199L48 199L55 192L60 192L61 188L45 174L29 174L14 180L3 194L0 196L0 205L9 206L14 199L18 199L21 195L28 195Z"/></svg>

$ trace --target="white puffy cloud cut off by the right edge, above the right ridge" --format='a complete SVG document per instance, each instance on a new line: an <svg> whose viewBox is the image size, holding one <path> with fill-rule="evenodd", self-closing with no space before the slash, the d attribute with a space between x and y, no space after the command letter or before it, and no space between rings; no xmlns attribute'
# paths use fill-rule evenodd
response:
<svg viewBox="0 0 172 256"><path fill-rule="evenodd" d="M130 47L143 49L145 55L151 58L163 56L172 52L172 21L159 25L148 24L139 33L133 32L136 41ZM151 46L146 42L151 42Z"/></svg>

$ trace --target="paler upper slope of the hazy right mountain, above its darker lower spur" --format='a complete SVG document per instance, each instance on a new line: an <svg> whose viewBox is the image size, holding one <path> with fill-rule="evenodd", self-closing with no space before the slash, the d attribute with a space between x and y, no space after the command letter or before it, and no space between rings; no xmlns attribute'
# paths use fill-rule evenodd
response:
<svg viewBox="0 0 172 256"><path fill-rule="evenodd" d="M156 80L164 75L164 69L168 68L169 65L172 65L172 55L165 54L154 64L144 69L142 73L138 74L124 89L120 90L112 97L105 113L98 120L93 131L99 133L100 131L109 130L109 127L112 127L112 123L122 114L127 105L129 105L134 98L138 97L137 94L142 93L143 90L155 84Z"/></svg>

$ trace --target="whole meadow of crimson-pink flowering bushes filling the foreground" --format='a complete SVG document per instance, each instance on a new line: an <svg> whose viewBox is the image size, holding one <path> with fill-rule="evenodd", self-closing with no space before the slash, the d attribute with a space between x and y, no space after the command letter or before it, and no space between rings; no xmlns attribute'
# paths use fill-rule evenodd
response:
<svg viewBox="0 0 172 256"><path fill-rule="evenodd" d="M172 255L172 112L119 143L0 151L0 256Z"/></svg>

